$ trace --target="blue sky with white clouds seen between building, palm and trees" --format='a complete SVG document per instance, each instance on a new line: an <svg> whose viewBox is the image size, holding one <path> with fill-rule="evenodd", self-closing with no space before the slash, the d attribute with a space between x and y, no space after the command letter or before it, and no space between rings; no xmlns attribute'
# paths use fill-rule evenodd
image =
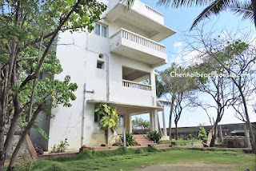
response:
<svg viewBox="0 0 256 171"><path fill-rule="evenodd" d="M165 19L165 25L175 30L177 33L171 36L170 38L166 38L161 43L166 46L166 53L168 55L168 64L165 66L158 67L157 70L164 70L168 66L170 66L171 62L181 62L181 56L177 53L182 49L182 46L185 46L185 42L183 41L183 33L184 31L187 34L194 34L193 31L187 32L192 25L194 18L198 16L204 9L204 7L191 7L191 8L178 8L173 9L171 7L166 8L165 6L157 6L157 2L155 0L141 0L146 3L146 5L153 7L155 10L161 12ZM206 30L210 30L214 27L214 30L221 32L222 30L234 31L239 27L245 32L251 32L254 36L256 36L256 31L254 25L250 21L242 21L242 17L238 17L231 12L223 12L218 16L211 17L210 19L206 19ZM200 26L200 24L198 25ZM212 99L206 94L201 95L204 101L208 101L211 104L214 104ZM208 111L212 116L216 113L215 109L209 109ZM250 108L250 113L253 113ZM160 125L162 127L162 113L158 113ZM165 117L166 117L166 127L168 127L170 116L170 108L165 108ZM149 121L149 114L142 114L134 117L142 117ZM256 121L255 113L250 115L251 121ZM239 121L236 117L234 117L233 109L226 109L222 121L220 124L229 124L229 123L238 123ZM185 109L182 113L181 119L178 122L178 127L187 127L187 126L197 126L199 124L202 125L210 125L210 121L206 115L206 112L203 109ZM172 121L172 127L174 127L174 121Z"/></svg>

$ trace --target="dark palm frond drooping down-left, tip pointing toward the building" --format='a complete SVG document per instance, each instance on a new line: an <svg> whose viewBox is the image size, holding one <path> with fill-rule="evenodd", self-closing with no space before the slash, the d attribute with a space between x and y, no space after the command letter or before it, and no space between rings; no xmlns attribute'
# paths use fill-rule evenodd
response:
<svg viewBox="0 0 256 171"><path fill-rule="evenodd" d="M201 14L194 20L190 30L194 28L194 26L198 25L198 22L201 22L205 18L210 18L211 15L218 15L222 11L230 9L231 5L236 4L235 0L215 0L209 6L206 7L205 10L202 11Z"/></svg>

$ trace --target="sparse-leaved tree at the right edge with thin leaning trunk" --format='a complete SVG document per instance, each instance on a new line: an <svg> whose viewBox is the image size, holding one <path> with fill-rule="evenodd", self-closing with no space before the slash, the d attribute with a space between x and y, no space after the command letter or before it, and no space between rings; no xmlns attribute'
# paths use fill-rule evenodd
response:
<svg viewBox="0 0 256 171"><path fill-rule="evenodd" d="M240 107L238 105L234 107L242 113L246 121L250 130L251 146L255 151L255 138L248 108L249 104L253 103L251 94L255 89L255 38L251 37L250 33L242 34L241 30L232 33L222 30L219 34L213 30L205 33L203 27L198 28L196 34L185 38L186 47L194 53L198 52L197 58L202 60L208 58L210 63L214 64L214 67L208 65L208 68L222 74L226 78L225 82L229 82L230 96L233 98L229 103L234 105L240 101L242 104Z"/></svg>

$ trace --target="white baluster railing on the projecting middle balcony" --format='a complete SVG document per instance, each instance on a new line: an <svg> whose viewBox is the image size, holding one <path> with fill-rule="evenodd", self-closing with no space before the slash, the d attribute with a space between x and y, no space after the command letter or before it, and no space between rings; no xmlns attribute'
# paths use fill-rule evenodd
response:
<svg viewBox="0 0 256 171"><path fill-rule="evenodd" d="M154 42L150 40L149 38L145 38L139 34L134 34L133 32L125 29L120 29L118 32L110 37L110 43L116 44L118 42L118 39L125 38L127 40L130 40L131 42L136 42L138 44L141 44L143 46L149 47L153 50L158 50L159 52L166 53L166 46L161 45L158 42Z"/></svg>

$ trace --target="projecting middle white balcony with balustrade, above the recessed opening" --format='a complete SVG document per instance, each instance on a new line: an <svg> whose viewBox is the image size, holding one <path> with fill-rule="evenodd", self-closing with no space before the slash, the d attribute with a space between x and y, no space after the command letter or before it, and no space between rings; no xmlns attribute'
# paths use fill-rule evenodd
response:
<svg viewBox="0 0 256 171"><path fill-rule="evenodd" d="M118 30L110 37L110 52L153 67L167 63L166 46L125 29Z"/></svg>

